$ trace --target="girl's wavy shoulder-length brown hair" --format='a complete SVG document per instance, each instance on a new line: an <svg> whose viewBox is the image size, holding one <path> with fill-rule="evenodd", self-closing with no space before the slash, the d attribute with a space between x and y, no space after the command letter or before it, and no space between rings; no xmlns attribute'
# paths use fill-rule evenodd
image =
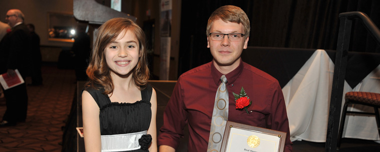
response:
<svg viewBox="0 0 380 152"><path fill-rule="evenodd" d="M149 69L146 60L144 31L132 20L121 17L110 19L99 27L96 41L91 52L90 63L86 70L89 79L86 86L96 89L104 88L103 94L113 92L114 85L112 83L110 69L105 61L104 50L105 47L112 41L115 41L116 37L124 30L130 30L134 33L139 43L140 57L136 67L132 71L133 81L135 85L141 89L146 87L149 79Z"/></svg>

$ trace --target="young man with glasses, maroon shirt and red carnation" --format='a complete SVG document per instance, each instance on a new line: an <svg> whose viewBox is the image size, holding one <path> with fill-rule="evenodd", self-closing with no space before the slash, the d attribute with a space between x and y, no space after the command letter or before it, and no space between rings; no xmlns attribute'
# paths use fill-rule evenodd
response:
<svg viewBox="0 0 380 152"><path fill-rule="evenodd" d="M222 83L222 76L227 78L229 108L228 114L223 112L224 116L218 118L228 117L223 120L286 132L284 151L292 152L285 101L278 81L241 60L249 33L249 19L241 8L226 5L211 14L207 24L207 47L213 60L179 77L164 112L164 125L158 138L160 152L175 151L186 123L189 127L189 152L220 151L220 145L214 147L213 142L221 143L224 129L215 138L214 132L217 131L212 131L216 130L212 122L217 121L213 119L213 112L215 117L216 91ZM233 92L239 94L242 87L252 101L247 111L235 108ZM225 122L223 125L221 128L225 127Z"/></svg>

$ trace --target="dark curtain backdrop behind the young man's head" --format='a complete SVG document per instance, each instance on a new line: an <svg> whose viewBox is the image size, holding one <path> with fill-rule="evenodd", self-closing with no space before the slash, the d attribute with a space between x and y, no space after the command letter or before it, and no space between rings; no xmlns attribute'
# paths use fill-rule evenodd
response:
<svg viewBox="0 0 380 152"><path fill-rule="evenodd" d="M210 62L206 25L220 6L241 7L251 22L249 46L336 50L341 12L362 11L379 27L380 0L182 0L178 76ZM380 52L354 21L350 51Z"/></svg>

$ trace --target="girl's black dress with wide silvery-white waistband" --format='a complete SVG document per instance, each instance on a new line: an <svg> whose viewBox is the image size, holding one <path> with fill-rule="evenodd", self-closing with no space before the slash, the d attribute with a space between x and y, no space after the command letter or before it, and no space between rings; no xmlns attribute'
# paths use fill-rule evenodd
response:
<svg viewBox="0 0 380 152"><path fill-rule="evenodd" d="M96 90L87 87L86 91L91 94L100 109L102 152L149 152L147 149L152 138L150 135L143 134L146 134L152 117L150 103L152 86L148 84L144 90L141 90L142 100L135 103L111 102L108 95L102 94L104 89ZM137 135L125 136L125 134ZM115 138L115 136L118 137ZM107 140L109 137L113 140ZM124 151L125 145L129 145L127 151Z"/></svg>

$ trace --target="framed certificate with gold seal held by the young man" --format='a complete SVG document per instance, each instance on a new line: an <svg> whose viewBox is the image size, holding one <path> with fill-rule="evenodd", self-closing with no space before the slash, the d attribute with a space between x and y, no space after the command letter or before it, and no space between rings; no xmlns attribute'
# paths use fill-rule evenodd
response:
<svg viewBox="0 0 380 152"><path fill-rule="evenodd" d="M227 121L220 152L283 152L286 133Z"/></svg>

